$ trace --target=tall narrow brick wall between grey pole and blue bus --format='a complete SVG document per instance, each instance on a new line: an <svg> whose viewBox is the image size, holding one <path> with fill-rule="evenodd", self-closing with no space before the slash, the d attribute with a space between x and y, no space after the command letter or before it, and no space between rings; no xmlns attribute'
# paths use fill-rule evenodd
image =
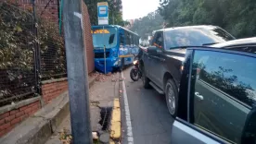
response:
<svg viewBox="0 0 256 144"><path fill-rule="evenodd" d="M83 13L83 36L84 36L84 45L86 48L87 55L87 68L88 73L91 73L95 70L95 53L93 46L93 38L91 34L91 22L88 14L87 6L82 0L82 13Z"/></svg>

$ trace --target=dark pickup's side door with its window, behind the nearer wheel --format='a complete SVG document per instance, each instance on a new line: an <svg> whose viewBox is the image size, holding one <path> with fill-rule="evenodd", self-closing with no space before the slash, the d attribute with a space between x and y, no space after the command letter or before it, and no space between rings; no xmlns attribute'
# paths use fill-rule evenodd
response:
<svg viewBox="0 0 256 144"><path fill-rule="evenodd" d="M157 54L149 55L150 59L150 79L160 87L162 82L162 77L160 75L162 70L162 63L164 62L163 57L163 34L162 31L158 31L155 33L154 42L157 46Z"/></svg>

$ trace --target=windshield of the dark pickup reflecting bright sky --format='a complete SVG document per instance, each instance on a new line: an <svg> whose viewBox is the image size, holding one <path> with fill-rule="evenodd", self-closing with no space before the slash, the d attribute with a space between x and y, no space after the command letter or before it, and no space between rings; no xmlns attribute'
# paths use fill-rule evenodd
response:
<svg viewBox="0 0 256 144"><path fill-rule="evenodd" d="M217 27L165 30L164 38L167 49L183 46L211 45L211 43L235 39L229 33Z"/></svg>

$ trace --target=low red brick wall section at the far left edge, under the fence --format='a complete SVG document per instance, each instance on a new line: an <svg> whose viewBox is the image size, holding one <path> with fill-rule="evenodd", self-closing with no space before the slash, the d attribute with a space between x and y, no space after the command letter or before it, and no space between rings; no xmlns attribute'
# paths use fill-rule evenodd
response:
<svg viewBox="0 0 256 144"><path fill-rule="evenodd" d="M40 108L40 102L37 101L0 114L0 138Z"/></svg>

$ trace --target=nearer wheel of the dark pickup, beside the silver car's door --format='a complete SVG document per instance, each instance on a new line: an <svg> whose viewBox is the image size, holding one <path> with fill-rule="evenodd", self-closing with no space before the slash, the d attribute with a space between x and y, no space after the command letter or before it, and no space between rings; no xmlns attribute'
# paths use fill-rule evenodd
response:
<svg viewBox="0 0 256 144"><path fill-rule="evenodd" d="M172 78L169 78L165 84L165 99L169 110L169 113L173 117L176 116L177 102L178 102L178 90Z"/></svg>

